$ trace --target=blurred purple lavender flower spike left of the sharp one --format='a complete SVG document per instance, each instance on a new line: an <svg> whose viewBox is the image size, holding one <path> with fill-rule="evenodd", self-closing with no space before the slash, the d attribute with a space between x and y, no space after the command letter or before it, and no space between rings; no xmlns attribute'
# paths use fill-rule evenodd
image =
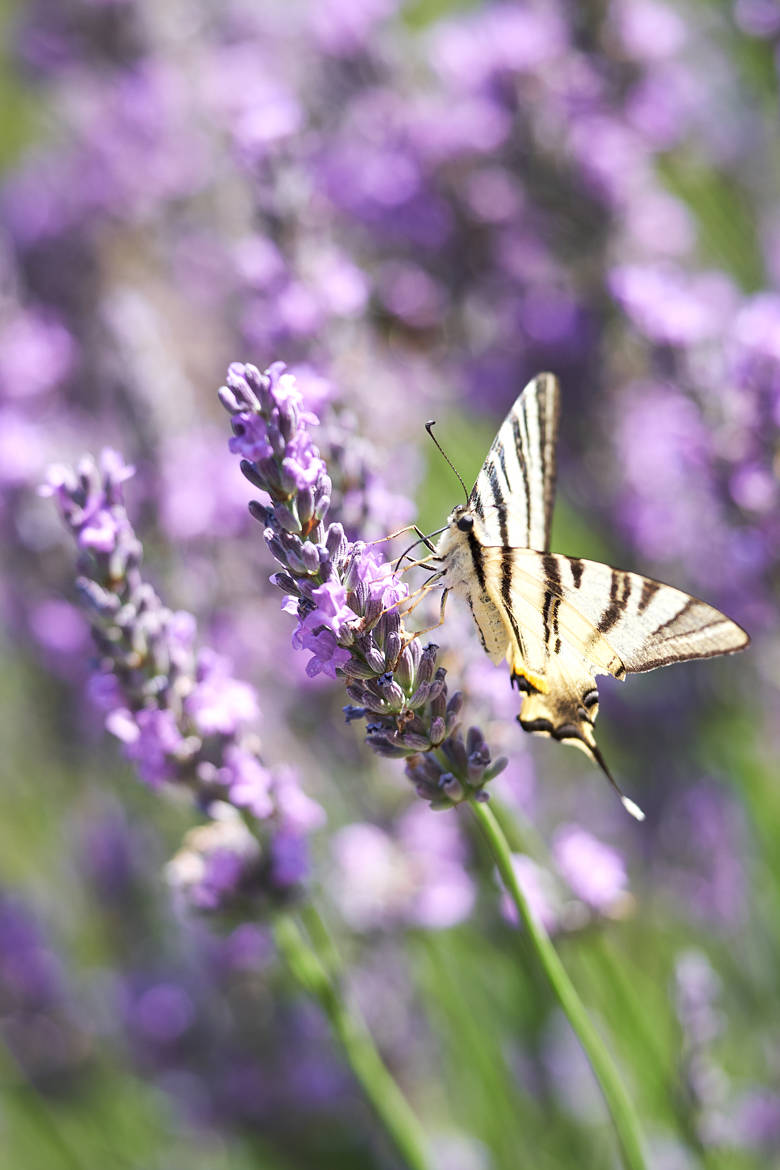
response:
<svg viewBox="0 0 780 1170"><path fill-rule="evenodd" d="M213 908L258 886L287 895L306 875L305 837L324 813L299 791L292 801L289 771L277 776L263 764L250 730L253 688L234 679L220 655L198 648L192 614L168 610L144 580L141 544L122 494L132 474L116 452L104 450L98 462L53 468L41 488L78 546L76 585L98 651L92 697L141 779L152 787L185 785L212 818L208 833L195 831L185 842L188 901ZM256 847L247 847L251 833L239 813ZM182 872L170 869L174 878Z"/></svg>

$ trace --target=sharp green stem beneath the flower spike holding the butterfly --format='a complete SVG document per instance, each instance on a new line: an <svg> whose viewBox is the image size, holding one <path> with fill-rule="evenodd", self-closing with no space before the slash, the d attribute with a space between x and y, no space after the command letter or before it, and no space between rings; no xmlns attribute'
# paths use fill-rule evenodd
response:
<svg viewBox="0 0 780 1170"><path fill-rule="evenodd" d="M634 1106L609 1052L593 1026L582 1000L574 990L574 985L567 976L555 948L550 941L550 935L531 913L531 908L517 880L515 867L512 866L512 854L504 832L489 805L475 800L470 801L470 804L471 811L488 839L504 886L517 907L517 913L525 927L531 945L537 952L541 968L558 997L560 1006L566 1013L568 1023L577 1033L595 1079L599 1082L599 1088L615 1127L623 1164L627 1170L647 1170L642 1152L639 1120L634 1112Z"/></svg>

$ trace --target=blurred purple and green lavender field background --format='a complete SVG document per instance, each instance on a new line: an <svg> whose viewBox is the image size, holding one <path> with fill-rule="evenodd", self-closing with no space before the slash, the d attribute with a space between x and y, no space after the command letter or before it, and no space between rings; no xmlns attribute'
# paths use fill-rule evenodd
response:
<svg viewBox="0 0 780 1170"><path fill-rule="evenodd" d="M780 5L39 0L2 39L0 1166L399 1165L262 917L178 911L163 870L196 813L88 701L36 486L106 445L138 468L147 573L327 810L313 881L436 1164L613 1164L468 817L417 800L290 648L216 405L235 359L295 370L364 538L457 502L426 419L470 480L553 370L553 548L750 629L602 686L643 825L520 734L457 603L436 636L510 756L496 807L654 1170L780 1165Z"/></svg>

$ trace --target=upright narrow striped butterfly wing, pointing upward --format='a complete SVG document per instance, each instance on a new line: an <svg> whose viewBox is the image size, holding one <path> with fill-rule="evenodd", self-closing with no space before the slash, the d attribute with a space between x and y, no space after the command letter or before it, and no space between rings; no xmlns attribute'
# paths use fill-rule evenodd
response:
<svg viewBox="0 0 780 1170"><path fill-rule="evenodd" d="M558 379L537 374L504 419L469 497L482 544L550 548L559 417Z"/></svg>

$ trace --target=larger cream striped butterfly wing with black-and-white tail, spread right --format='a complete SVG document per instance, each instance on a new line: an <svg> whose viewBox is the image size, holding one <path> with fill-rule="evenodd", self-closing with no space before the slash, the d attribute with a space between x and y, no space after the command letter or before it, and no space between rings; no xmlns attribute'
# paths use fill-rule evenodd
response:
<svg viewBox="0 0 780 1170"><path fill-rule="evenodd" d="M484 548L482 557L509 635L512 680L526 693L520 725L581 748L613 784L594 735L595 676L623 679L750 641L711 605L639 573L530 549Z"/></svg>

